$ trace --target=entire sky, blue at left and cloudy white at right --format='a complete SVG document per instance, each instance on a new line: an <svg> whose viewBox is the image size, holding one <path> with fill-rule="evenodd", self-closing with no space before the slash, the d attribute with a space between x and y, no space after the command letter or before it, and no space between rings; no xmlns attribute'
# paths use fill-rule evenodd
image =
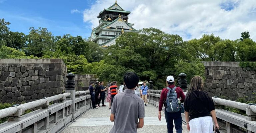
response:
<svg viewBox="0 0 256 133"><path fill-rule="evenodd" d="M226 39L238 39L249 31L256 40L255 0L117 0L127 11L134 28L155 27L178 34L184 40L213 33ZM10 21L11 30L28 32L30 26L46 27L54 35L90 36L97 27L96 17L115 0L0 0L0 17ZM14 8L16 7L18 8ZM1 8L2 6L2 8ZM1 17L2 18L2 17ZM25 22L24 22L25 21ZM22 28L21 28L22 27Z"/></svg>

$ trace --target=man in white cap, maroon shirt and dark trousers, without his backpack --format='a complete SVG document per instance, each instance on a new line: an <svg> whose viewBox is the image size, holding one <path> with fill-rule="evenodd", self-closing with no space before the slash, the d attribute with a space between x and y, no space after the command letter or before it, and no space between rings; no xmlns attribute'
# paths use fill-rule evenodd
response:
<svg viewBox="0 0 256 133"><path fill-rule="evenodd" d="M174 85L174 78L173 76L168 76L166 78L166 83L168 84L168 86L166 88L162 89L161 92L161 96L160 96L160 100L159 100L159 106L158 106L158 119L159 121L161 121L161 111L163 108L163 104L164 101L166 101L167 99L167 93L169 92L169 89L174 89L176 94L177 94L177 98L181 97L181 102L184 102L185 100L185 95L182 91L182 89L180 87L175 87ZM169 89L167 89L169 88ZM177 131L177 133L182 133L182 118L181 118L181 112L167 112L167 108L165 105L165 110L164 110L164 114L165 114L165 120L167 123L167 132L168 133L173 133L173 121L174 121L174 125L175 125L175 129Z"/></svg>

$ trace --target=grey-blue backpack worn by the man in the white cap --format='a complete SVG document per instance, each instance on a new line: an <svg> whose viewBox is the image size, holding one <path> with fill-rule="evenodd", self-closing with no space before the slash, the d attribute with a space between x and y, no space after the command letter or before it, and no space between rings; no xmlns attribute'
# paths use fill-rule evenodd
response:
<svg viewBox="0 0 256 133"><path fill-rule="evenodd" d="M170 113L178 112L180 111L179 108L179 103L178 103L178 98L177 98L177 93L175 89L177 88L176 86L174 88L169 88L166 87L169 91L167 93L166 97L166 111Z"/></svg>

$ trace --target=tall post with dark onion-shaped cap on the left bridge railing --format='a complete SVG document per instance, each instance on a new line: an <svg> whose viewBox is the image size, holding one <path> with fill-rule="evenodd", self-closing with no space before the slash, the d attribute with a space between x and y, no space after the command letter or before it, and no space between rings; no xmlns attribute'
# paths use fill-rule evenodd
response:
<svg viewBox="0 0 256 133"><path fill-rule="evenodd" d="M67 97L67 100L72 100L71 104L71 112L72 112L72 119L75 120L75 80L73 78L75 75L73 73L67 74L68 80L66 81L66 93L69 92L71 95ZM72 121L73 121L72 120Z"/></svg>

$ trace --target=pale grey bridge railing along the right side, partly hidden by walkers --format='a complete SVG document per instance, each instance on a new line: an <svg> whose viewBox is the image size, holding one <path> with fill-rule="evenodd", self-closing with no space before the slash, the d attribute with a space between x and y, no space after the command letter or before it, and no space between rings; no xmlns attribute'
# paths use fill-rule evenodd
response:
<svg viewBox="0 0 256 133"><path fill-rule="evenodd" d="M161 90L151 90L149 94L149 103L158 107ZM186 94L186 93L185 93ZM256 133L256 106L212 97L216 106L216 116L218 124L222 130L227 133ZM246 111L246 115L233 113L220 108L220 105ZM182 120L185 122L185 114L182 114Z"/></svg>

